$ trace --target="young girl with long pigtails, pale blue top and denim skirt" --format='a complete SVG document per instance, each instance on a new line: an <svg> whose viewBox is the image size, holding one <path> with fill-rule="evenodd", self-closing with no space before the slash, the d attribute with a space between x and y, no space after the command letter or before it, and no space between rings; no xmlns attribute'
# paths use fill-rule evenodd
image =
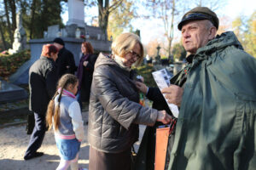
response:
<svg viewBox="0 0 256 170"><path fill-rule="evenodd" d="M54 128L55 141L60 151L61 161L56 170L78 170L79 149L84 139L84 122L82 121L79 102L75 98L79 86L78 78L66 74L58 82L58 89L50 100L46 122Z"/></svg>

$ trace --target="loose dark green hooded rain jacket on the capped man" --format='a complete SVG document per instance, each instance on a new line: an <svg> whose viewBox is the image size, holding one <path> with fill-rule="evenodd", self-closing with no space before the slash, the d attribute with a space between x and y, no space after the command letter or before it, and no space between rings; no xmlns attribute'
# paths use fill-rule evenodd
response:
<svg viewBox="0 0 256 170"><path fill-rule="evenodd" d="M187 77L168 170L256 169L256 59L233 32L199 48Z"/></svg>

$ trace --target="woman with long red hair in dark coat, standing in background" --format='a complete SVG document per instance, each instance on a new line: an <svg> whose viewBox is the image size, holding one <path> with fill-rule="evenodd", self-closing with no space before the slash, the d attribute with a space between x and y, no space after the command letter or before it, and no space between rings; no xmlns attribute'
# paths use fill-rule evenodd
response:
<svg viewBox="0 0 256 170"><path fill-rule="evenodd" d="M80 108L82 109L82 102L89 102L90 99L90 86L97 55L93 54L94 51L90 42L82 42L81 51L83 55L79 61L79 68L77 71L77 77L79 78L79 92L77 94L77 99Z"/></svg>

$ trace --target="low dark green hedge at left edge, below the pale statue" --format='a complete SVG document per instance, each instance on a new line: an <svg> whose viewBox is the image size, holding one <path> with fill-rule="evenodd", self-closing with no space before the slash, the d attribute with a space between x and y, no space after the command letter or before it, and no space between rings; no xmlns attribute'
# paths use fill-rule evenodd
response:
<svg viewBox="0 0 256 170"><path fill-rule="evenodd" d="M8 80L8 77L30 59L30 56L29 50L20 51L16 54L0 54L0 77Z"/></svg>

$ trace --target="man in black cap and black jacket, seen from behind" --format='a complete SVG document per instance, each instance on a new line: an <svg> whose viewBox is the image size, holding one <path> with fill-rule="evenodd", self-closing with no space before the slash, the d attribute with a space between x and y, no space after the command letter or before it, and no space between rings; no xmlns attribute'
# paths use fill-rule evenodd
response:
<svg viewBox="0 0 256 170"><path fill-rule="evenodd" d="M65 43L60 37L54 39L54 45L59 49L57 64L57 74L61 78L64 74L74 74L77 71L77 66L73 58L73 54L65 48Z"/></svg>

